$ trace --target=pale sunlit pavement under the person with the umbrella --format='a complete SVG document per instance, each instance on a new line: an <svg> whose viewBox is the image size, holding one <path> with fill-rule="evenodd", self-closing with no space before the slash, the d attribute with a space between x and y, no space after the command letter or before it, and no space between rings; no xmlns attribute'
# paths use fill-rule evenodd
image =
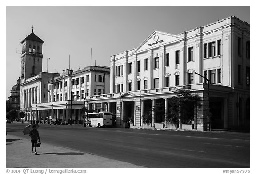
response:
<svg viewBox="0 0 256 174"><path fill-rule="evenodd" d="M44 142L31 152L30 139L6 136L6 168L144 168Z"/></svg>

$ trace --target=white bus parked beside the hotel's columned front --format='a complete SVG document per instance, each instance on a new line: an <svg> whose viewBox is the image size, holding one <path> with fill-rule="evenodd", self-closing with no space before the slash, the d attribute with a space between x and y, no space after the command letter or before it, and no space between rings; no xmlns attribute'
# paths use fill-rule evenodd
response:
<svg viewBox="0 0 256 174"><path fill-rule="evenodd" d="M89 126L112 126L113 118L111 112L101 111L99 113L88 113Z"/></svg>

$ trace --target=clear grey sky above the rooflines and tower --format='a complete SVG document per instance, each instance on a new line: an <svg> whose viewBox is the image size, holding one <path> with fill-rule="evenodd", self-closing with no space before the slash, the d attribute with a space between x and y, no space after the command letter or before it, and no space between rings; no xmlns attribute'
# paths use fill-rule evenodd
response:
<svg viewBox="0 0 256 174"><path fill-rule="evenodd" d="M140 46L154 31L180 34L236 16L250 23L250 6L6 6L6 99L20 77L20 42L44 41L43 71L110 66L110 56Z"/></svg>

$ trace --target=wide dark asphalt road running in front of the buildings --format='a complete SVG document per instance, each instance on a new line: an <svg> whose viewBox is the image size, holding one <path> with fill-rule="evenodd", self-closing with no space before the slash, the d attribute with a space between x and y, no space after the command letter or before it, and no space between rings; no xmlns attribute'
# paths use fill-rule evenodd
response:
<svg viewBox="0 0 256 174"><path fill-rule="evenodd" d="M27 124L6 124L29 140ZM250 134L43 125L44 143L149 168L250 168Z"/></svg>

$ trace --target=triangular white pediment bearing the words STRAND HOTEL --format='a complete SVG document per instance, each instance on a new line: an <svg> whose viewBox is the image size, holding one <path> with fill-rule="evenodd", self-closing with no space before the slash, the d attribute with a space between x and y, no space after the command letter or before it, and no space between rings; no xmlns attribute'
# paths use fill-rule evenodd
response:
<svg viewBox="0 0 256 174"><path fill-rule="evenodd" d="M161 31L154 31L142 44L140 44L140 46L136 50L134 50L133 53L148 50L183 38L184 37L179 35L172 35Z"/></svg>

